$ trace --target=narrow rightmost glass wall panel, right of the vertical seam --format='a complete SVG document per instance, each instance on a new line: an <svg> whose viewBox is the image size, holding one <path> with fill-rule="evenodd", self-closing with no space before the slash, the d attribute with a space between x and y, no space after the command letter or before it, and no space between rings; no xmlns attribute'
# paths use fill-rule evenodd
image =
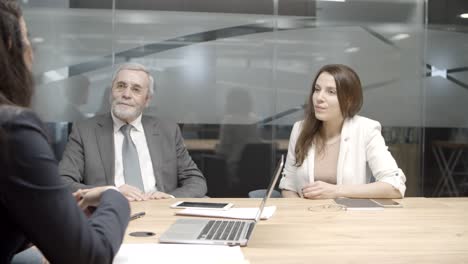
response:
<svg viewBox="0 0 468 264"><path fill-rule="evenodd" d="M468 2L429 1L425 37L427 196L468 195Z"/></svg>

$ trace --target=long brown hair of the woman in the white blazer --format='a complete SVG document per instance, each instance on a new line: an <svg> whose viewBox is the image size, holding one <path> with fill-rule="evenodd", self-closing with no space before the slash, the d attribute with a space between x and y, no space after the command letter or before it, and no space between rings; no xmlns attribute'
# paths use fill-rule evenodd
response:
<svg viewBox="0 0 468 264"><path fill-rule="evenodd" d="M295 155L296 166L300 166L307 156L307 152L312 143L318 143L319 149L324 147L323 140L320 140L320 129L323 122L315 117L313 95L315 83L322 73L329 73L335 79L338 102L344 118L353 117L362 107L363 96L359 76L350 67L342 64L329 64L323 66L315 76L312 83L311 92L305 109L305 118L302 130L296 142Z"/></svg>

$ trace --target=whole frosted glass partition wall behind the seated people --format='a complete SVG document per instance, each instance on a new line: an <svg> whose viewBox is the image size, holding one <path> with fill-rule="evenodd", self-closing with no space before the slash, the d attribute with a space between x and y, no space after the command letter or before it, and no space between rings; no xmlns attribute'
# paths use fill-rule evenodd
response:
<svg viewBox="0 0 468 264"><path fill-rule="evenodd" d="M468 191L466 27L432 23L441 8L431 1L23 4L34 109L58 159L72 122L110 110L115 66L139 62L156 83L146 114L180 125L208 195L246 197L267 186L287 153L315 73L342 63L361 77L360 114L381 122L407 196Z"/></svg>

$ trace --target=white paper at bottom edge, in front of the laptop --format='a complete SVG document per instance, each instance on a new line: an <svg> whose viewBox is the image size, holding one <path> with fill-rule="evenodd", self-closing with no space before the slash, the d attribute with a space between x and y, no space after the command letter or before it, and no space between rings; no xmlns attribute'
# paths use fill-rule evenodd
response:
<svg viewBox="0 0 468 264"><path fill-rule="evenodd" d="M114 264L248 264L240 247L184 244L122 244Z"/></svg>

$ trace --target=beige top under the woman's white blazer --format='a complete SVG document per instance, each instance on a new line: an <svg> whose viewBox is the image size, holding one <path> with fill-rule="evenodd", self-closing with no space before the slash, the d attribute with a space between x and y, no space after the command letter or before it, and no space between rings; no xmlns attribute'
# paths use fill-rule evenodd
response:
<svg viewBox="0 0 468 264"><path fill-rule="evenodd" d="M340 139L341 137L336 137L328 141L321 153L317 153L317 148L315 148L315 181L336 184Z"/></svg>

